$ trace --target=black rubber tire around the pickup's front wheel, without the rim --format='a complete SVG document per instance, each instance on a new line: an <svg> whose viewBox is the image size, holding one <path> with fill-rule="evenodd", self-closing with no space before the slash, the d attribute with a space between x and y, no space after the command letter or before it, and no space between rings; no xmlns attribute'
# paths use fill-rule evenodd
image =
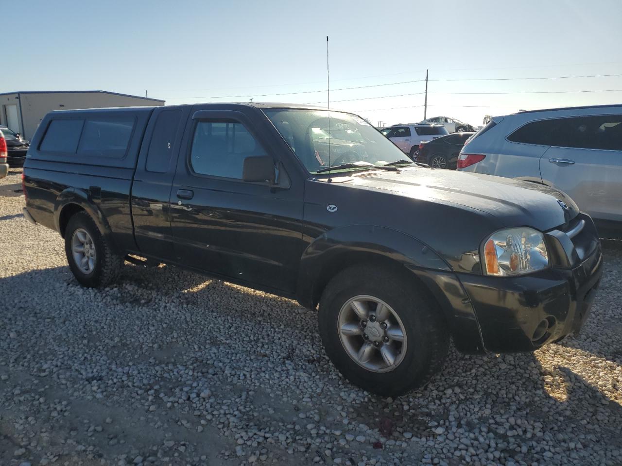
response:
<svg viewBox="0 0 622 466"><path fill-rule="evenodd" d="M388 372L362 367L341 344L338 315L349 299L359 295L382 299L404 324L406 355ZM338 273L322 293L318 328L328 357L344 377L381 396L402 395L424 386L447 357L449 336L438 304L417 283L387 267L358 265Z"/></svg>

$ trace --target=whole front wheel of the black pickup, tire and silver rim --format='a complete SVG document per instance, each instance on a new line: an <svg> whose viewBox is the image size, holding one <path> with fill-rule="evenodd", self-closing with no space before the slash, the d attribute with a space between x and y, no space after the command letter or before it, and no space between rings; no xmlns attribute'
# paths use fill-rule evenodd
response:
<svg viewBox="0 0 622 466"><path fill-rule="evenodd" d="M320 299L318 327L335 367L382 396L425 385L447 355L440 309L417 283L383 267L338 273Z"/></svg>

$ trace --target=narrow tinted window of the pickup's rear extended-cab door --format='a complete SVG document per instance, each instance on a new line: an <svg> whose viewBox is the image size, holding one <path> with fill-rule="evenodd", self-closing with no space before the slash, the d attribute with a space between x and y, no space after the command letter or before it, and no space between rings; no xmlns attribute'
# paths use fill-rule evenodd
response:
<svg viewBox="0 0 622 466"><path fill-rule="evenodd" d="M147 171L155 171L156 173L169 171L175 135L177 135L181 116L181 110L165 110L157 117L151 142L149 142L149 152L147 152L147 165L145 167Z"/></svg>

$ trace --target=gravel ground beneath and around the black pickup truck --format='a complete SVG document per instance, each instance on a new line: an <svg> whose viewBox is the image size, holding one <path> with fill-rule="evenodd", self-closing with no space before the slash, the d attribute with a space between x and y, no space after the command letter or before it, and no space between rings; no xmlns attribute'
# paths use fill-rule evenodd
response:
<svg viewBox="0 0 622 466"><path fill-rule="evenodd" d="M340 377L315 313L172 267L81 288L0 180L0 465L622 464L622 249L582 334L452 351L391 400Z"/></svg>

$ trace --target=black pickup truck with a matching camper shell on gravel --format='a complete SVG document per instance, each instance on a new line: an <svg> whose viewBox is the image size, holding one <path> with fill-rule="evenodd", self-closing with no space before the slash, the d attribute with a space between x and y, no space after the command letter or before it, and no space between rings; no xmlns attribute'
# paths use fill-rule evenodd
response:
<svg viewBox="0 0 622 466"><path fill-rule="evenodd" d="M62 235L84 286L140 258L319 304L328 356L381 395L429 380L450 338L531 351L580 329L602 260L572 199L404 157L358 116L297 104L53 111L24 216Z"/></svg>

